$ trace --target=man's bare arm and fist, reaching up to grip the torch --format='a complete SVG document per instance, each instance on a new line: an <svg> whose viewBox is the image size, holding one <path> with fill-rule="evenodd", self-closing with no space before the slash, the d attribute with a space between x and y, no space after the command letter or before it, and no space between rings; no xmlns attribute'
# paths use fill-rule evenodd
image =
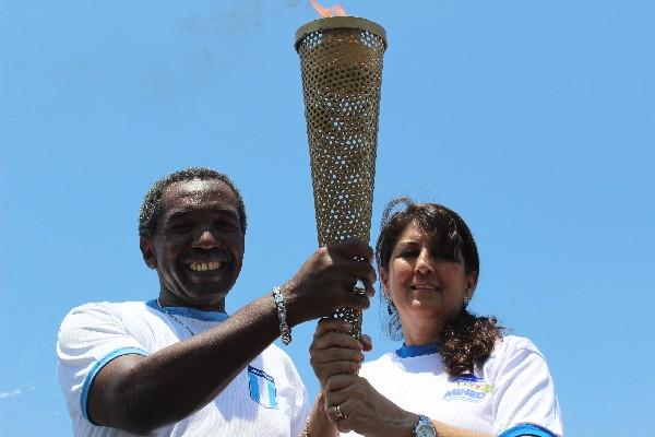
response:
<svg viewBox="0 0 655 437"><path fill-rule="evenodd" d="M350 291L359 277L372 295L372 267L354 261L371 256L368 246L355 240L317 250L282 287L289 326L338 307L367 308L368 298ZM178 422L213 400L277 336L277 309L266 294L202 334L147 357L123 355L109 362L91 387L88 416L136 434Z"/></svg>

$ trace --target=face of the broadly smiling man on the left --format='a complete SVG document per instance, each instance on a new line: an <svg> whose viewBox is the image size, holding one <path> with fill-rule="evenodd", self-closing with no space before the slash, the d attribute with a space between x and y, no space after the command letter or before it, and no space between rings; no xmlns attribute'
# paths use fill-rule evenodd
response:
<svg viewBox="0 0 655 437"><path fill-rule="evenodd" d="M243 231L233 190L219 180L174 182L162 196L157 231L141 239L167 306L225 309L243 259Z"/></svg>

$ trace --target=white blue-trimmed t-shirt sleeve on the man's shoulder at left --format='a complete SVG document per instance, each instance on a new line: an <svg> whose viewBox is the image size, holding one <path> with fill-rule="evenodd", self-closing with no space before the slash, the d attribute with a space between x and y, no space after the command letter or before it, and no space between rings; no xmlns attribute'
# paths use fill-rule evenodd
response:
<svg viewBox="0 0 655 437"><path fill-rule="evenodd" d="M111 304L86 304L67 315L57 340L59 385L71 413L88 421L86 401L93 379L111 359L147 352L126 328Z"/></svg>

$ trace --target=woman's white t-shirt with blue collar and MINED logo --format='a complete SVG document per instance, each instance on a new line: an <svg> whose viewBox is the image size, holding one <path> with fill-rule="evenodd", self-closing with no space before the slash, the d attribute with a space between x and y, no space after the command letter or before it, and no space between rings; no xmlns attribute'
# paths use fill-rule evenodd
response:
<svg viewBox="0 0 655 437"><path fill-rule="evenodd" d="M528 339L504 336L473 375L449 377L437 346L403 346L359 375L402 409L451 426L503 437L563 434L552 377Z"/></svg>

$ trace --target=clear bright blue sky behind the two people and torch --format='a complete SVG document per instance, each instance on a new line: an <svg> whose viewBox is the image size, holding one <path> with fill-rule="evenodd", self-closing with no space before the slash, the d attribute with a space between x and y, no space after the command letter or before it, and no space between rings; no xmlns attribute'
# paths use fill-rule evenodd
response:
<svg viewBox="0 0 655 437"><path fill-rule="evenodd" d="M332 3L323 2L329 5ZM569 436L655 425L655 2L348 0L386 28L372 235L388 200L460 212L473 300L534 340ZM72 307L143 300L136 214L189 165L249 213L228 310L317 246L297 27L303 0L0 3L0 434L70 434L55 340ZM397 347L365 316L369 359ZM310 391L313 323L288 347Z"/></svg>

